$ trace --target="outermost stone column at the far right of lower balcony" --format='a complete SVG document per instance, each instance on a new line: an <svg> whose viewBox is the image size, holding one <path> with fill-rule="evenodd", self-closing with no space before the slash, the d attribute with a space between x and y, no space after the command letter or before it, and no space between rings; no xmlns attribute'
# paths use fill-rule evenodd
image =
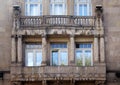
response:
<svg viewBox="0 0 120 85"><path fill-rule="evenodd" d="M104 36L100 37L100 62L105 62Z"/></svg>

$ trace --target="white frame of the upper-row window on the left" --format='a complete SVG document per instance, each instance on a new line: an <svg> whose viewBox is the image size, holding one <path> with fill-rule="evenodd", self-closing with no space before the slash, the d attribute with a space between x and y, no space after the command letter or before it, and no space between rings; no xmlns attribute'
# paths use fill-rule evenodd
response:
<svg viewBox="0 0 120 85"><path fill-rule="evenodd" d="M30 5L37 5L38 15L31 15ZM42 16L43 15L42 0L38 0L37 2L31 2L30 0L25 0L25 15L26 16Z"/></svg>

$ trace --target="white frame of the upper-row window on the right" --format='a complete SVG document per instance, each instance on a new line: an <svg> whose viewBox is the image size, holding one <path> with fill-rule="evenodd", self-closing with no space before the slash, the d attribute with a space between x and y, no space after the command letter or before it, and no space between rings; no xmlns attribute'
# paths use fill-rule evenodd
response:
<svg viewBox="0 0 120 85"><path fill-rule="evenodd" d="M82 15L79 14L80 13L80 9L79 9L80 5L87 6L87 15L84 15L84 8L82 8ZM86 1L75 0L75 2L74 2L74 15L76 15L76 16L92 16L91 0L86 0Z"/></svg>

